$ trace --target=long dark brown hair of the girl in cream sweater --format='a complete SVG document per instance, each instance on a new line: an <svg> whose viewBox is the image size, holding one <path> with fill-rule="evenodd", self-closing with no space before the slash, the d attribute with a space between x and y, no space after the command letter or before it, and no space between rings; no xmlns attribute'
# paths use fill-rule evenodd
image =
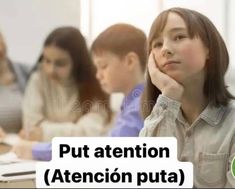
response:
<svg viewBox="0 0 235 189"><path fill-rule="evenodd" d="M98 102L98 108L104 108L108 113L107 121L111 120L109 95L105 94L95 78L95 68L80 31L74 27L59 27L53 30L44 42L44 47L54 45L67 51L73 61L72 75L77 82L79 105L82 114L90 111L93 102ZM38 63L40 63L40 56ZM101 107L102 106L102 107Z"/></svg>

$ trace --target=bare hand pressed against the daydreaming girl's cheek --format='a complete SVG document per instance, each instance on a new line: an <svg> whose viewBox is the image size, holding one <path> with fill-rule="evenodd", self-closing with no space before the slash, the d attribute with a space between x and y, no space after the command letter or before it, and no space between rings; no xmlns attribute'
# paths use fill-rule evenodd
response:
<svg viewBox="0 0 235 189"><path fill-rule="evenodd" d="M161 72L154 60L153 52L148 59L148 71L152 83L162 92L163 95L180 101L184 92L184 87L167 74Z"/></svg>

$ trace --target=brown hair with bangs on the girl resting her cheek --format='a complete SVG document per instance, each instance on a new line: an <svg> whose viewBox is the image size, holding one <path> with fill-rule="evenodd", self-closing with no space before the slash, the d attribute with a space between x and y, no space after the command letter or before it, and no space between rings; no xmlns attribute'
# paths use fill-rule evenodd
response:
<svg viewBox="0 0 235 189"><path fill-rule="evenodd" d="M214 106L227 105L228 101L234 98L227 90L224 82L224 75L229 64L228 51L218 30L206 16L185 8L171 8L160 13L151 26L147 42L148 55L152 50L152 41L163 31L168 15L171 12L178 14L184 20L190 38L199 37L209 49L209 59L205 65L205 96ZM144 118L151 113L160 93L160 90L152 84L147 71L146 86L141 104Z"/></svg>

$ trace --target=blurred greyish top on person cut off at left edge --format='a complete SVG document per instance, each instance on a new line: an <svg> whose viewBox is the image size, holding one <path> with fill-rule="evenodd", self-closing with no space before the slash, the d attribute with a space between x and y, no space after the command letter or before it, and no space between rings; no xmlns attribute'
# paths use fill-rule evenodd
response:
<svg viewBox="0 0 235 189"><path fill-rule="evenodd" d="M22 93L19 85L0 85L0 126L5 132L18 132L21 128Z"/></svg>

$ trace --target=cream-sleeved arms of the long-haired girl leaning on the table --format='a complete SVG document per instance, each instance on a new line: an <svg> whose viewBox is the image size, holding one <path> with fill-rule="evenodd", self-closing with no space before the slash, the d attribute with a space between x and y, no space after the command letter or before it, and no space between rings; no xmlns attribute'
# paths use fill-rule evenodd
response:
<svg viewBox="0 0 235 189"><path fill-rule="evenodd" d="M105 130L107 114L94 105L77 123L51 122L43 113L43 94L39 74L30 78L23 101L24 131L21 136L31 140L50 141L55 136L99 136ZM31 137L30 137L31 136Z"/></svg>

